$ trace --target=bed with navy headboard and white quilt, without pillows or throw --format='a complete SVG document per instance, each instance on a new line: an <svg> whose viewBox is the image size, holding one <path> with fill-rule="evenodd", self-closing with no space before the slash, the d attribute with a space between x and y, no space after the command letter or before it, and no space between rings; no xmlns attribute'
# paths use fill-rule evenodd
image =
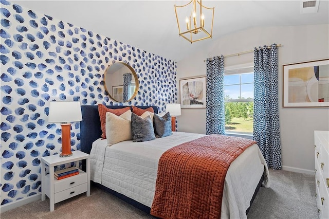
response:
<svg viewBox="0 0 329 219"><path fill-rule="evenodd" d="M126 106L106 106L123 108ZM145 109L150 106L138 106ZM175 145L204 137L202 134L174 132L144 142L122 141L108 147L102 134L97 105L81 106L81 151L90 154L90 179L94 184L150 213L155 194L158 162ZM154 107L157 113L157 107ZM157 182L158 183L158 182ZM269 187L266 161L253 144L229 166L221 203L221 218L247 218L261 186Z"/></svg>

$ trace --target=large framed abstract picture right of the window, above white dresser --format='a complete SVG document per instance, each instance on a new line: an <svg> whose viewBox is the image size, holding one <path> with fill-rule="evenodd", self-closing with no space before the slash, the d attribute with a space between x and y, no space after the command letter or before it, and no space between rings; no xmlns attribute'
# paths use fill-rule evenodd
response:
<svg viewBox="0 0 329 219"><path fill-rule="evenodd" d="M329 59L282 65L282 107L329 107Z"/></svg>

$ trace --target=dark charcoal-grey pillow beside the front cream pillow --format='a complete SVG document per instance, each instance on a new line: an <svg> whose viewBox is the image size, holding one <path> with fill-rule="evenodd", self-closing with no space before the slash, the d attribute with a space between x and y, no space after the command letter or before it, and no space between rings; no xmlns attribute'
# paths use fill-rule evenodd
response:
<svg viewBox="0 0 329 219"><path fill-rule="evenodd" d="M155 139L153 121L150 115L142 118L132 113L132 137L134 142Z"/></svg>

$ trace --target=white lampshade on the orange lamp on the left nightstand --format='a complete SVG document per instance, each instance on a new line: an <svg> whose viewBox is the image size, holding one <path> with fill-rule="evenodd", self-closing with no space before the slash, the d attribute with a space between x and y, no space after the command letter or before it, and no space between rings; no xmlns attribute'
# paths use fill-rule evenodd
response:
<svg viewBox="0 0 329 219"><path fill-rule="evenodd" d="M81 121L80 102L52 101L49 105L48 122L76 122Z"/></svg>

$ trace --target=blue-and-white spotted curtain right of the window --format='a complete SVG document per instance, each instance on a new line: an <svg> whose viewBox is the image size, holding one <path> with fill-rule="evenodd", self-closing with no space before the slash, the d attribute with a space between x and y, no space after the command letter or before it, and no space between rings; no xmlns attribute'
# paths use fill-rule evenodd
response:
<svg viewBox="0 0 329 219"><path fill-rule="evenodd" d="M278 48L254 48L253 140L268 167L280 170L281 143L278 101Z"/></svg>

